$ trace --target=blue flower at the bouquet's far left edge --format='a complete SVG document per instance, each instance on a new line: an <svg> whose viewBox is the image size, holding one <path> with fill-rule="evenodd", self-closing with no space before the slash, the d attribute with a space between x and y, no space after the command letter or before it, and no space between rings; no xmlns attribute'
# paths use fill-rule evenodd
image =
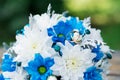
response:
<svg viewBox="0 0 120 80"><path fill-rule="evenodd" d="M1 69L2 71L15 71L16 62L13 62L13 58L9 54L4 55L4 58L2 59Z"/></svg>

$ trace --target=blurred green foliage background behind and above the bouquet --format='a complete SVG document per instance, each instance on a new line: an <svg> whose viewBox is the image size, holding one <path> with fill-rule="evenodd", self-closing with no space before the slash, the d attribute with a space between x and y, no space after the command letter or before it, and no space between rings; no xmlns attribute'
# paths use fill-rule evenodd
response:
<svg viewBox="0 0 120 80"><path fill-rule="evenodd" d="M69 11L80 19L90 16L104 41L120 50L120 0L0 0L0 45L15 41L16 30L28 23L30 13L46 12L49 3L57 13Z"/></svg>

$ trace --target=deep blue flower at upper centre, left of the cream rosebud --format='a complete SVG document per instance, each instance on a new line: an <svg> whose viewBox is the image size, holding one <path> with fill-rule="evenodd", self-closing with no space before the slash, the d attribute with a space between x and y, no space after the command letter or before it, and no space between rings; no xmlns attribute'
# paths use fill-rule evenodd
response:
<svg viewBox="0 0 120 80"><path fill-rule="evenodd" d="M54 31L55 33L54 33ZM53 36L52 40L54 43L61 42L65 44L66 36L72 31L72 27L60 21L57 25L52 28L48 28L48 35Z"/></svg>

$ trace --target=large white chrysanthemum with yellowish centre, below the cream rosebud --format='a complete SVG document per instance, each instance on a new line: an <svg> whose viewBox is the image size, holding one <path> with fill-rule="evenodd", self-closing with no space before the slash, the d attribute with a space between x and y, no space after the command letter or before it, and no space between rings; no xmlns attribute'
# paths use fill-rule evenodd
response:
<svg viewBox="0 0 120 80"><path fill-rule="evenodd" d="M84 71L93 65L92 59L95 54L87 49L80 51L79 45L70 48L67 44L62 51L62 57L54 57L55 64L52 70L55 75L61 75L63 80L79 80L83 78Z"/></svg>

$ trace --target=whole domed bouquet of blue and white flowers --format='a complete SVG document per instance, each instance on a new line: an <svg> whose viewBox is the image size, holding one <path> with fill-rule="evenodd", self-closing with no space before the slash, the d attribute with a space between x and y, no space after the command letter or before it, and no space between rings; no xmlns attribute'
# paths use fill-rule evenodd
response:
<svg viewBox="0 0 120 80"><path fill-rule="evenodd" d="M90 18L30 15L5 52L0 80L106 80L111 50Z"/></svg>

